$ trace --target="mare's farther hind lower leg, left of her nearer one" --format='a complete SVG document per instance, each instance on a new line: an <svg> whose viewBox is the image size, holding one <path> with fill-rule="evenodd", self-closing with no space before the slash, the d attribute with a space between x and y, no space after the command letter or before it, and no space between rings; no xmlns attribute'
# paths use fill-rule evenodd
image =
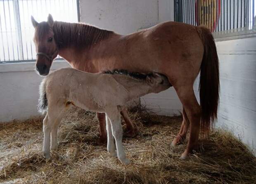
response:
<svg viewBox="0 0 256 184"><path fill-rule="evenodd" d="M180 127L179 134L174 138L173 142L171 143L171 146L176 146L176 144L180 144L182 142L185 142L186 136L187 136L187 130L189 129L190 121L187 118L187 113L185 109L182 110L183 114L183 121Z"/></svg>

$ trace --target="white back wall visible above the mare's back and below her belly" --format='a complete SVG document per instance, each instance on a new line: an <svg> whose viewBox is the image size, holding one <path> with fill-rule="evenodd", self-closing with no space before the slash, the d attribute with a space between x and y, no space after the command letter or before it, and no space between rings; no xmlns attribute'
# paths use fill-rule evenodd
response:
<svg viewBox="0 0 256 184"><path fill-rule="evenodd" d="M81 22L129 34L160 22L173 21L173 0L83 0ZM180 114L182 106L173 88L148 94L141 104L162 115Z"/></svg>

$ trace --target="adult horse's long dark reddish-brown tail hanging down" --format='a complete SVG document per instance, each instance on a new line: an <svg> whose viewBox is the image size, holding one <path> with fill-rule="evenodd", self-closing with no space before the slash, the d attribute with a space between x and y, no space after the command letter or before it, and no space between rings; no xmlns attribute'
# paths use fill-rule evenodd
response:
<svg viewBox="0 0 256 184"><path fill-rule="evenodd" d="M209 29L197 27L197 32L204 44L204 56L200 73L201 130L209 133L215 120L219 104L219 61L213 35Z"/></svg>

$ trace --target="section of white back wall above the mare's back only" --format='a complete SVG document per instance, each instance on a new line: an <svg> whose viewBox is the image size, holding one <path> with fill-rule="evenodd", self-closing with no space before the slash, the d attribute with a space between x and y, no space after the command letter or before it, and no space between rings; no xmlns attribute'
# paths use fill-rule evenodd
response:
<svg viewBox="0 0 256 184"><path fill-rule="evenodd" d="M83 0L81 22L128 34L173 19L173 0Z"/></svg>

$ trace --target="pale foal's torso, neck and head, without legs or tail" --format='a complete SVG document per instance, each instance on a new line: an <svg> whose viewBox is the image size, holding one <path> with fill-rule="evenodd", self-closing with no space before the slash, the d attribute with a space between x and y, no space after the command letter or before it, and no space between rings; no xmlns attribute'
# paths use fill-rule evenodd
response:
<svg viewBox="0 0 256 184"><path fill-rule="evenodd" d="M123 106L144 94L170 87L168 79L161 75L144 75L138 79L128 74L86 73L62 68L46 77L47 99L55 103L53 106L73 104L82 109L104 112L107 106Z"/></svg>

